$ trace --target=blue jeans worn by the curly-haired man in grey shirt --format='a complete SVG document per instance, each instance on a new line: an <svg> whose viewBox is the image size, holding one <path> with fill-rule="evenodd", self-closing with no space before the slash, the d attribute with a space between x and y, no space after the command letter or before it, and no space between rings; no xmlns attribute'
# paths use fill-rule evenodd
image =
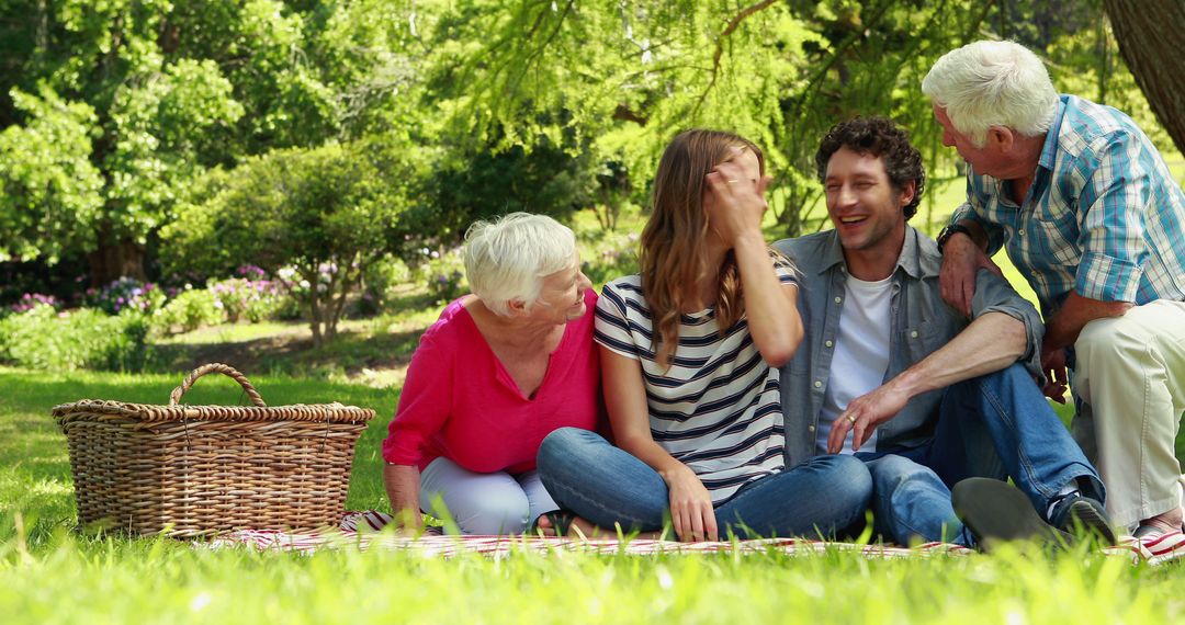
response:
<svg viewBox="0 0 1185 625"><path fill-rule="evenodd" d="M950 505L950 488L967 477L1011 477L1042 517L1071 481L1084 495L1106 498L1098 472L1021 365L948 387L925 445L856 457L872 473L875 529L899 545L971 546Z"/></svg>

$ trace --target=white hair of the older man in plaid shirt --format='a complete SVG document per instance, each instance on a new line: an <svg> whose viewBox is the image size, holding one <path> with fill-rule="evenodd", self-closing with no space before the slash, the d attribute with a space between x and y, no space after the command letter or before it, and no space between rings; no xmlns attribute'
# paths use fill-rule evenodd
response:
<svg viewBox="0 0 1185 625"><path fill-rule="evenodd" d="M978 148L992 127L1030 137L1048 133L1057 112L1045 64L1014 41L975 41L947 52L922 79L922 92Z"/></svg>

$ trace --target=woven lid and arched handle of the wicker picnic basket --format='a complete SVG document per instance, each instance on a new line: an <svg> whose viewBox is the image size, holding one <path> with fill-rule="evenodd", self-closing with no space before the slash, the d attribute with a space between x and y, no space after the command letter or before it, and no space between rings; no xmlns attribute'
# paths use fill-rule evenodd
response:
<svg viewBox="0 0 1185 625"><path fill-rule="evenodd" d="M186 406L181 398L193 384L207 373L223 373L235 379L252 406ZM83 399L53 407L58 425L78 420L133 419L150 423L220 420L220 421L316 421L316 423L366 423L374 418L374 411L357 406L333 404L290 404L268 406L242 373L219 362L203 365L191 373L181 386L169 394L167 406L155 404L129 404L123 401Z"/></svg>

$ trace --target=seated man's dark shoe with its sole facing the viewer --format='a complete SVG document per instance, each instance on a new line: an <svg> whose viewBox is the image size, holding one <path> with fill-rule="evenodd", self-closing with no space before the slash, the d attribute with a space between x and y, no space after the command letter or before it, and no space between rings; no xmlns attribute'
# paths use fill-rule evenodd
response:
<svg viewBox="0 0 1185 625"><path fill-rule="evenodd" d="M985 552L1012 541L1065 547L1074 539L1042 520L1024 494L999 479L963 479L950 491L950 503Z"/></svg>

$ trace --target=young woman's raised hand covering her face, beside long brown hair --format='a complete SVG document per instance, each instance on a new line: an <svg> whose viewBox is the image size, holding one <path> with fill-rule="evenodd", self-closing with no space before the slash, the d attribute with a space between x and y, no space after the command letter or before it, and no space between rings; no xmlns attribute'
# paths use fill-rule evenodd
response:
<svg viewBox="0 0 1185 625"><path fill-rule="evenodd" d="M743 152L741 157L744 154L751 153ZM731 246L745 234L762 238L761 218L769 206L766 202L766 187L769 186L770 178L761 175L756 157L751 159L754 163L748 166L739 159L723 162L707 174L707 188L703 199L707 225Z"/></svg>

